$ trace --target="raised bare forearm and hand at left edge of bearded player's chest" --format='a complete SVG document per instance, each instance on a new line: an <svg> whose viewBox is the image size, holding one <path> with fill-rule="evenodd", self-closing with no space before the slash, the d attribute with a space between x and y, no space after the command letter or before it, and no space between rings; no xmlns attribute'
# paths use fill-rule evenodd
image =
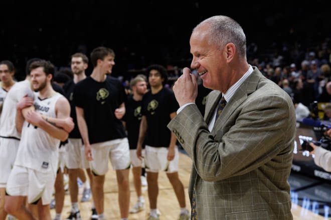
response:
<svg viewBox="0 0 331 220"><path fill-rule="evenodd" d="M33 98L26 94L16 105L15 125L19 133L22 132L22 127L25 120L24 114L27 114L30 110L35 110L35 106L33 105Z"/></svg>

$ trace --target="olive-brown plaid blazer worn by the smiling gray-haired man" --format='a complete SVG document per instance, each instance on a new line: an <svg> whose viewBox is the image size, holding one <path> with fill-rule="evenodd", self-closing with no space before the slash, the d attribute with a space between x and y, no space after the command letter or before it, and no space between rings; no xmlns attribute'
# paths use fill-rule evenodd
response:
<svg viewBox="0 0 331 220"><path fill-rule="evenodd" d="M290 174L296 132L289 95L257 67L228 100L212 132L222 97L212 91L205 117L186 106L168 127L192 158L189 195L198 219L292 219Z"/></svg>

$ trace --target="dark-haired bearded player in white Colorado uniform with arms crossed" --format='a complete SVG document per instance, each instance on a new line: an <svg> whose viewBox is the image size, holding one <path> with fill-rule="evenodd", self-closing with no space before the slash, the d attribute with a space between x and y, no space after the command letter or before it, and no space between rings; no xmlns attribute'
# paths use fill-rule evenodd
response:
<svg viewBox="0 0 331 220"><path fill-rule="evenodd" d="M14 167L7 182L5 210L19 219L35 219L24 206L38 205L40 219L51 219L49 203L56 177L58 146L73 129L68 100L51 85L54 65L46 60L30 64L34 98L17 104L16 128L22 131ZM30 107L25 107L31 105ZM35 110L33 109L35 108Z"/></svg>

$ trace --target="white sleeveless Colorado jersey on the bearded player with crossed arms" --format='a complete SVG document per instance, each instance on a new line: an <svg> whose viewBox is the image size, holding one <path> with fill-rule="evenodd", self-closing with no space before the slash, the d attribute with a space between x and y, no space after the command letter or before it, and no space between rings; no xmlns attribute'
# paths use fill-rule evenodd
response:
<svg viewBox="0 0 331 220"><path fill-rule="evenodd" d="M57 92L52 97L44 99L40 99L38 96L39 92L36 92L34 97L36 111L55 118L55 104L63 95ZM41 172L53 171L56 175L59 144L59 139L25 120L15 164Z"/></svg>

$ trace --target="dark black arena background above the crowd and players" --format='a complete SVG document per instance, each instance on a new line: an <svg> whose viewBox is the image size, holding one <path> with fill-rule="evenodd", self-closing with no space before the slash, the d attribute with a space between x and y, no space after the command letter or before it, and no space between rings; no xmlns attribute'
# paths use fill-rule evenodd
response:
<svg viewBox="0 0 331 220"><path fill-rule="evenodd" d="M113 74L126 77L130 69L151 63L180 68L190 64L189 38L203 19L224 14L243 27L247 44L257 45L253 56L266 56L287 45L306 49L330 37L327 1L140 1L68 0L2 2L0 60L17 67L24 77L29 58L68 66L70 55L88 55L94 47L114 49ZM250 47L249 47L250 48ZM249 52L249 51L248 51ZM90 63L87 74L92 70Z"/></svg>

